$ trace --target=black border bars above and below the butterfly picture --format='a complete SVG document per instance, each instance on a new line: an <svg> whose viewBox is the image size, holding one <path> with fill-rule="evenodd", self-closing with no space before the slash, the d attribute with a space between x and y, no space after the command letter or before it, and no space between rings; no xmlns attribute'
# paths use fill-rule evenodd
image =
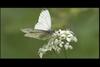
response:
<svg viewBox="0 0 100 67"><path fill-rule="evenodd" d="M71 8L71 7L89 7L89 8L99 8L99 1L2 1L0 3L1 8ZM1 10L0 10L1 13ZM0 14L1 15L1 14ZM1 24L0 24L1 25ZM1 31L1 29L0 29ZM1 36L0 36L1 38ZM1 40L1 39L0 39ZM1 55L1 54L0 54ZM100 55L99 55L100 56ZM49 64L49 65L79 65L79 64L89 64L89 65L99 65L100 58L98 59L3 59L0 58L0 64L32 64L37 66L37 64ZM34 65L35 64L35 65ZM86 66L86 65L84 65Z"/></svg>

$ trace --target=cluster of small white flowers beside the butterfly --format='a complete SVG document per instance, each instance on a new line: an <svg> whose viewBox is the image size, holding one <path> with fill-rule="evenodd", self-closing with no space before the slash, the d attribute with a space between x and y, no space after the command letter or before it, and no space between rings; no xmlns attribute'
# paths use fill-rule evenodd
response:
<svg viewBox="0 0 100 67"><path fill-rule="evenodd" d="M43 45L43 47L39 49L39 56L42 58L47 51L51 51L52 49L58 53L60 53L62 47L64 47L66 50L73 49L72 45L70 45L70 42L73 41L77 42L77 38L74 36L72 31L59 29L52 34L48 44Z"/></svg>

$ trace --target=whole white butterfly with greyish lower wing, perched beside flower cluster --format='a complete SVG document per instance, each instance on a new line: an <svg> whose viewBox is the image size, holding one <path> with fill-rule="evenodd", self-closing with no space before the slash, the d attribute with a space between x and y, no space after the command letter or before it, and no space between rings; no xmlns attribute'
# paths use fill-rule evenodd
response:
<svg viewBox="0 0 100 67"><path fill-rule="evenodd" d="M21 29L21 31L25 33L25 37L40 40L49 39L53 31L51 31L51 16L48 9L42 9L38 18L38 22L37 24L35 24L34 29L24 28Z"/></svg>

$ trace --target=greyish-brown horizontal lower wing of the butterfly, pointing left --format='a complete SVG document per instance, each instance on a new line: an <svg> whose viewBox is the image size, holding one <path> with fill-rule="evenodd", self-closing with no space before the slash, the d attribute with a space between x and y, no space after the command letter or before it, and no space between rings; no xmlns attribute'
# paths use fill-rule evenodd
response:
<svg viewBox="0 0 100 67"><path fill-rule="evenodd" d="M25 37L35 38L39 40L46 40L49 39L51 36L51 33L46 31L40 31L40 30L33 30L32 28L25 28L21 30L25 33Z"/></svg>

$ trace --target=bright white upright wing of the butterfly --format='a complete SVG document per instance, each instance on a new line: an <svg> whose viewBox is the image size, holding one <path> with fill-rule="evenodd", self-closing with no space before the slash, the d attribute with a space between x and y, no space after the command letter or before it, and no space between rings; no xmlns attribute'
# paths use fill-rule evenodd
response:
<svg viewBox="0 0 100 67"><path fill-rule="evenodd" d="M51 17L47 9L41 11L38 23L35 25L34 29L45 31L51 30Z"/></svg>

